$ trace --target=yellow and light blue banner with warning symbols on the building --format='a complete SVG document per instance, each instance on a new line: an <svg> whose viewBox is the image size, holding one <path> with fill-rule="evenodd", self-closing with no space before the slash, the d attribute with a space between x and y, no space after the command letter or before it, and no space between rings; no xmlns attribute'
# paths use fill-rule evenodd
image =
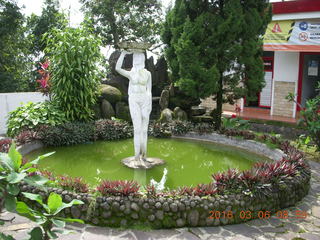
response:
<svg viewBox="0 0 320 240"><path fill-rule="evenodd" d="M320 20L272 21L263 37L263 49L320 52Z"/></svg>

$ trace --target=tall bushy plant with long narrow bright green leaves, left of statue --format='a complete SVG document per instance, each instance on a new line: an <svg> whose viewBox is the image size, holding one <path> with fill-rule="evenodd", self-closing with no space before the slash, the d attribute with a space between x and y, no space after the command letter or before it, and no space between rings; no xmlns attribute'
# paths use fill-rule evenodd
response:
<svg viewBox="0 0 320 240"><path fill-rule="evenodd" d="M101 79L101 41L87 27L55 29L47 34L53 100L70 121L93 118Z"/></svg>

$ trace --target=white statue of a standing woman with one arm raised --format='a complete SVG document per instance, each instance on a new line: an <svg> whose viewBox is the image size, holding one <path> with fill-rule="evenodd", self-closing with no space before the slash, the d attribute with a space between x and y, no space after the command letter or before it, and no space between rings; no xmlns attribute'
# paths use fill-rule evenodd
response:
<svg viewBox="0 0 320 240"><path fill-rule="evenodd" d="M149 116L152 108L151 73L145 69L145 55L133 52L130 71L121 68L126 51L122 51L116 71L129 79L129 109L134 129L134 152L136 166L144 166L147 159Z"/></svg>

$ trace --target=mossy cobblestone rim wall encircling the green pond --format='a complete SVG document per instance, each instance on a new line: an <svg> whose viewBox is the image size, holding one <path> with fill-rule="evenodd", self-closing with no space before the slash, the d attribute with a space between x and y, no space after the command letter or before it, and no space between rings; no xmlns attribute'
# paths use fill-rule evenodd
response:
<svg viewBox="0 0 320 240"><path fill-rule="evenodd" d="M191 134L191 136L196 137L195 134ZM189 137L191 136L189 135ZM204 140L204 136L201 138ZM209 139L209 141L212 140ZM223 141L225 140L221 138L220 142ZM241 140L241 142L253 143L254 141ZM261 147L264 145L257 144ZM32 148L34 150L34 146L31 145L28 146L29 151ZM38 144L37 147L41 147L41 144ZM20 152L26 153L28 152L26 150L28 149L25 146L20 147ZM279 151L275 152L271 157L274 160L279 158L279 154L281 154ZM269 154L268 151L265 153ZM165 198L163 196L94 196L88 193L75 193L52 187L48 188L48 192L44 192L26 184L21 186L21 191L40 193L44 197L54 191L61 194L63 200L67 202L71 199L81 199L85 203L84 205L74 206L71 211L66 209L61 216L80 218L87 223L98 226L131 227L136 224L152 228L219 226L253 219L241 218L240 212L242 211L250 211L251 213L270 211L276 213L278 210L295 205L308 194L310 169L303 168L299 170L297 175L285 179L281 188L278 186L272 187L268 195L255 195L254 197L243 192L206 197L184 195L175 198ZM234 218L209 218L210 211L214 210L220 212L232 211Z"/></svg>

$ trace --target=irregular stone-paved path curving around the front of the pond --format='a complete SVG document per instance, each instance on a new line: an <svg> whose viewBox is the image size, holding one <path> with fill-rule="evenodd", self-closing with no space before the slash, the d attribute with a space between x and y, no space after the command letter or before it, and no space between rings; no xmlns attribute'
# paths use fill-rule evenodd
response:
<svg viewBox="0 0 320 240"><path fill-rule="evenodd" d="M272 216L268 220L252 220L244 224L228 225L224 227L180 228L165 230L120 230L113 228L101 228L90 225L68 225L68 229L75 233L64 235L59 240L152 240L152 239L188 239L188 240L264 240L264 239L288 239L288 240L320 240L320 164L310 162L312 170L311 189L309 194L297 204L296 207L286 209L288 219L279 219ZM282 213L284 213L282 211ZM297 213L307 217L298 218ZM34 226L28 219L4 212L1 219L11 219L0 227L0 232L11 234L17 240L27 239L27 232Z"/></svg>

